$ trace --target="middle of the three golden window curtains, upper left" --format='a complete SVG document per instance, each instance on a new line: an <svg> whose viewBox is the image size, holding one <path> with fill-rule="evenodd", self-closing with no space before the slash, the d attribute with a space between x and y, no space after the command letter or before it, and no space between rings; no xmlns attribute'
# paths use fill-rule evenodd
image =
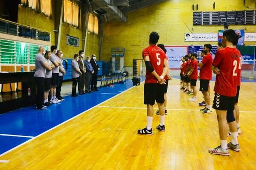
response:
<svg viewBox="0 0 256 170"><path fill-rule="evenodd" d="M64 0L64 22L79 26L79 6L69 0Z"/></svg>

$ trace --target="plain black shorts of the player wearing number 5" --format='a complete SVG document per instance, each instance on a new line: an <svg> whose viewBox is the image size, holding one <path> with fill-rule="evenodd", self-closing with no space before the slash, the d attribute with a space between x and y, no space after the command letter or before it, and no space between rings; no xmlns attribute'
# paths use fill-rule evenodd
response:
<svg viewBox="0 0 256 170"><path fill-rule="evenodd" d="M164 102L164 85L157 83L145 83L144 84L144 105L154 105Z"/></svg>

